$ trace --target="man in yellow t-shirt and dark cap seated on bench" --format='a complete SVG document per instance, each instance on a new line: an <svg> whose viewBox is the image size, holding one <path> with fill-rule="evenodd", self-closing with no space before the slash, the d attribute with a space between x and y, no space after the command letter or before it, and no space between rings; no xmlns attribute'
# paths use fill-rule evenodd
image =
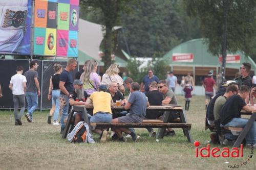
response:
<svg viewBox="0 0 256 170"><path fill-rule="evenodd" d="M86 101L86 105L93 104L93 116L90 123L111 123L114 105L111 94L106 92L106 85L99 85L98 91L93 92ZM108 132L106 129L95 129L93 132L100 134L100 142L106 142Z"/></svg>

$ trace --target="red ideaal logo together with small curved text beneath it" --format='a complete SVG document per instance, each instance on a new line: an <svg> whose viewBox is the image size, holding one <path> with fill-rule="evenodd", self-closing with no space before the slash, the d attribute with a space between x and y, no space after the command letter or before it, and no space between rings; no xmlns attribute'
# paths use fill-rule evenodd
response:
<svg viewBox="0 0 256 170"><path fill-rule="evenodd" d="M200 145L199 141L195 141L194 145L196 147L196 158L199 157L198 155L200 155L203 158L210 157L210 155L215 158L220 157L220 156L222 156L223 158L227 158L227 157L243 158L243 144L240 144L240 150L239 150L239 148L232 148L231 152L230 152L229 148L222 148L222 150L220 150L219 148L215 147L215 148L210 149L210 144L207 144L207 147L203 147L199 150L198 149L198 147ZM205 155L203 154L203 151L206 151ZM253 144L251 144L251 152L245 161L243 161L240 164L237 164L237 163L229 164L228 167L229 168L239 168L243 165L246 165L247 163L249 163L252 156L253 156ZM226 163L229 163L229 162L226 162Z"/></svg>

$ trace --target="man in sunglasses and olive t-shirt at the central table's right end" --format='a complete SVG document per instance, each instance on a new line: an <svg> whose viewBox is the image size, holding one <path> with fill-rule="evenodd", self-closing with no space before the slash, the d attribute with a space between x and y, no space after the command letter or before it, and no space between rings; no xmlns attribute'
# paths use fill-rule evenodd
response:
<svg viewBox="0 0 256 170"><path fill-rule="evenodd" d="M171 104L178 105L177 98L172 91L172 89L168 89L167 83L165 80L160 80L158 82L158 90L163 93L163 101L162 104ZM171 113L170 120L176 119L179 117L178 113ZM172 128L168 128L168 131L164 133L165 136L175 136L175 131Z"/></svg>

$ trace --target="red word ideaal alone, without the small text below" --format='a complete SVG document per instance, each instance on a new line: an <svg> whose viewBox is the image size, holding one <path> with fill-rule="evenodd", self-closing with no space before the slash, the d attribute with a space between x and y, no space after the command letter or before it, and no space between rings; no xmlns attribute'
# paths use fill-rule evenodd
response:
<svg viewBox="0 0 256 170"><path fill-rule="evenodd" d="M196 147L196 157L198 158L198 155L200 155L203 158L206 157L210 157L210 155L212 157L218 158L220 156L222 156L223 158L227 158L227 157L232 157L232 158L238 158L238 157L243 157L243 144L240 145L240 150L239 148L232 148L231 152L229 150L229 148L222 148L222 151L218 148L212 148L210 149L210 144L207 144L207 147L203 147L200 150L198 149L200 142L199 141L195 141L194 145ZM206 154L203 154L203 151L206 151Z"/></svg>

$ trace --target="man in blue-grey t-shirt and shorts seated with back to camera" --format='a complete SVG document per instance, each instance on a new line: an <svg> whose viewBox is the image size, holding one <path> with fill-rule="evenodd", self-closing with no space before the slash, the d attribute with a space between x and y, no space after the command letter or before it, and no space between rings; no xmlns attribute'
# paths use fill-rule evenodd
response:
<svg viewBox="0 0 256 170"><path fill-rule="evenodd" d="M130 113L125 116L118 117L112 120L112 123L142 123L143 116L146 115L146 106L150 104L147 102L146 96L144 93L140 92L140 85L137 82L133 82L131 84L131 96L128 102L124 105L124 109L130 109ZM113 128L116 132L120 141L126 141L123 138L122 132L130 134L132 136L133 141L137 141L139 139L139 135L136 135L134 132L126 128Z"/></svg>

